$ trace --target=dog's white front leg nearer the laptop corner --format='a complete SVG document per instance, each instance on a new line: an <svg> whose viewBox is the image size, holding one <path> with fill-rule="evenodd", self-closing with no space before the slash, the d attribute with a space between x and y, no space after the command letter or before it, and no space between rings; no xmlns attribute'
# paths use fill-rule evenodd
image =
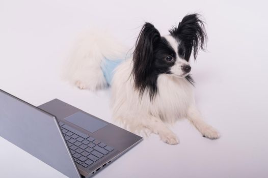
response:
<svg viewBox="0 0 268 178"><path fill-rule="evenodd" d="M155 134L158 134L160 139L168 144L178 144L179 140L175 133L173 133L166 125L163 123L160 118L149 116L149 120L145 119L142 121L142 125L152 131Z"/></svg>

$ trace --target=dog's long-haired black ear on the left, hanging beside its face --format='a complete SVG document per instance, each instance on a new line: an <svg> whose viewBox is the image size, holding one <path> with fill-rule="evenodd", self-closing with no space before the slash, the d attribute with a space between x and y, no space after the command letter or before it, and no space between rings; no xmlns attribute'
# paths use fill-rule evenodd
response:
<svg viewBox="0 0 268 178"><path fill-rule="evenodd" d="M142 27L133 52L132 74L135 87L141 91L141 94L146 88L146 80L150 75L153 62L154 46L159 40L158 30L151 23L146 22Z"/></svg>

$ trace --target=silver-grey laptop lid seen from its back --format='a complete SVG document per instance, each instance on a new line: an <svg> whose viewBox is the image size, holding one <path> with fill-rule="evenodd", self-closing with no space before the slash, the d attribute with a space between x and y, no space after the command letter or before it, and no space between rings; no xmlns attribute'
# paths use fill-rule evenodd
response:
<svg viewBox="0 0 268 178"><path fill-rule="evenodd" d="M2 90L0 136L68 177L81 177L56 117Z"/></svg>

